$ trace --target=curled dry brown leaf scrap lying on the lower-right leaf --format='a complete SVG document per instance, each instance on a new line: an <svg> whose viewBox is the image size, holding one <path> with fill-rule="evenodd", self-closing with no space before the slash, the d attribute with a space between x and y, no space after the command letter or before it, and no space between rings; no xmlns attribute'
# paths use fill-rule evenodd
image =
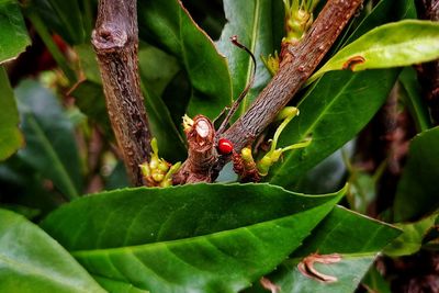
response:
<svg viewBox="0 0 439 293"><path fill-rule="evenodd" d="M331 255L311 253L309 256L305 257L297 264L297 269L303 275L305 275L307 278L315 279L315 280L324 282L324 283L334 283L334 282L337 282L338 279L334 275L328 275L328 274L318 272L314 268L314 262L330 264L330 263L337 263L340 260L341 260L341 256L338 253L331 253Z"/></svg>

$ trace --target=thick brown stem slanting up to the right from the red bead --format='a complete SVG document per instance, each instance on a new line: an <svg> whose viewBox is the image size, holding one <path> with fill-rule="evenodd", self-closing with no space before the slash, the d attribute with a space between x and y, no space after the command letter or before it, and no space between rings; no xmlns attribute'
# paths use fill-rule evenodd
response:
<svg viewBox="0 0 439 293"><path fill-rule="evenodd" d="M327 1L307 35L300 44L288 48L280 69L270 83L248 111L225 132L224 136L234 144L236 151L251 144L301 89L361 2Z"/></svg>

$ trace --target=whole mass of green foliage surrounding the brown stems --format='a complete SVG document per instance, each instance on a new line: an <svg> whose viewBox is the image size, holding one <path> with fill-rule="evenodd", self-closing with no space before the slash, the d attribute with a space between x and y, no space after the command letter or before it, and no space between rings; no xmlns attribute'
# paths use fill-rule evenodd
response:
<svg viewBox="0 0 439 293"><path fill-rule="evenodd" d="M140 87L160 158L172 164L187 156L181 116L216 117L250 81L250 56L229 37L237 35L257 58L255 83L237 117L270 81L260 57L280 53L285 34L281 0L207 2L138 2ZM19 5L0 0L0 63L30 44L22 9L47 48L35 53L35 64L44 58L57 64L50 74L32 72L33 81L19 76L15 92L0 68L0 206L29 217L0 210L0 291L268 292L262 280L277 292L354 292L360 282L390 292L385 275L370 269L380 252L397 258L438 248L439 133L431 128L416 71L399 67L438 58L439 30L435 23L406 20L416 19L413 0L372 2L378 1L364 1L307 84L315 82L289 104L300 115L279 139L284 124L273 122L258 140L264 142L252 154L256 161L270 148L266 142L273 133L273 149L311 138L305 148L275 156L268 183L131 189L88 41L97 1ZM215 36L199 24L219 40L213 42ZM70 46L61 48L55 35ZM11 76L14 65L5 66ZM394 154L369 164L376 154L364 154L361 144L373 138L370 121L395 84L397 112L406 111L407 124L415 125L407 126L407 136L418 134L395 179L394 205L378 215L381 210L373 209L380 196L394 195L379 189L387 183L381 176ZM369 132L362 133L364 127ZM221 178L235 180L230 165ZM334 192L345 181L349 185ZM115 188L125 189L102 191ZM98 193L81 196L85 192ZM417 222L396 223L399 230L337 206L345 193L341 203L362 214ZM41 227L30 222L41 218ZM333 282L297 268L312 257L331 255L335 262L314 269Z"/></svg>

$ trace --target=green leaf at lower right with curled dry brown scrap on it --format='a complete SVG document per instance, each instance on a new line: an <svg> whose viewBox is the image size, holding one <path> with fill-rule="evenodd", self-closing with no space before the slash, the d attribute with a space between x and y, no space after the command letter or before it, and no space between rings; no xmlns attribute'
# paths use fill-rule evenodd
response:
<svg viewBox="0 0 439 293"><path fill-rule="evenodd" d="M359 282L373 263L376 255L401 232L360 214L336 207L305 239L303 246L293 252L277 271L268 275L281 292L354 292ZM305 277L297 264L312 253L338 253L337 263L316 263L314 268L338 280L325 283ZM267 292L260 285L249 292Z"/></svg>

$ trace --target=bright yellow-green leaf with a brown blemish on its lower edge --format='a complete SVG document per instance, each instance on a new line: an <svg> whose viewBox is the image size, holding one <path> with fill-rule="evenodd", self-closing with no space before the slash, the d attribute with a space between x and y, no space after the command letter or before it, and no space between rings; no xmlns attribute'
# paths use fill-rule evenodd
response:
<svg viewBox="0 0 439 293"><path fill-rule="evenodd" d="M390 68L439 58L439 24L405 20L379 26L340 49L307 81L330 70Z"/></svg>

